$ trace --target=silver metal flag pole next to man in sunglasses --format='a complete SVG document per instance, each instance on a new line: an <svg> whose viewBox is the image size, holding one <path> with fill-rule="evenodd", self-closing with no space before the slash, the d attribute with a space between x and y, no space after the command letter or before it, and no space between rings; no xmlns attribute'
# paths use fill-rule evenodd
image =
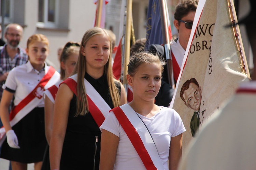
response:
<svg viewBox="0 0 256 170"><path fill-rule="evenodd" d="M161 24L162 24L162 33L163 33L163 44L165 45L166 53L166 62L168 69L168 81L169 84L175 88L174 76L173 76L173 67L172 67L172 58L171 58L171 48L170 48L170 38L168 32L168 21L167 21L167 3L166 0L159 0L160 14L161 14Z"/></svg>

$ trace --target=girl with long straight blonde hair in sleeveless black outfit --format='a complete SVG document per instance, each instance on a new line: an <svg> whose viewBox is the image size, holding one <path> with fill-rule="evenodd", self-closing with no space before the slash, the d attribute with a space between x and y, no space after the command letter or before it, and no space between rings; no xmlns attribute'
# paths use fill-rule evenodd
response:
<svg viewBox="0 0 256 170"><path fill-rule="evenodd" d="M99 169L99 126L111 108L126 103L124 87L112 75L111 50L106 30L86 31L74 75L56 95L51 169Z"/></svg>

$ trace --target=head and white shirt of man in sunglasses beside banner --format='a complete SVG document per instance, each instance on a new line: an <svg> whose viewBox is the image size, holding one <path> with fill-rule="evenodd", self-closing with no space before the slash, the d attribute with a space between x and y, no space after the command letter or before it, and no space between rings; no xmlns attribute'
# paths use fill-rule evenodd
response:
<svg viewBox="0 0 256 170"><path fill-rule="evenodd" d="M180 68L193 26L197 4L198 0L181 0L175 7L173 24L179 32L179 37L172 42L171 50Z"/></svg>

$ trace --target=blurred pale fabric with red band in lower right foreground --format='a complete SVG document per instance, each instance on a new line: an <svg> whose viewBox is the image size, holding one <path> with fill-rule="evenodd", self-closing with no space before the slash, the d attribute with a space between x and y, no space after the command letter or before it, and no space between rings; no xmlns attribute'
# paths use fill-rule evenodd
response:
<svg viewBox="0 0 256 170"><path fill-rule="evenodd" d="M179 170L255 169L255 101L256 81L242 83L191 142Z"/></svg>

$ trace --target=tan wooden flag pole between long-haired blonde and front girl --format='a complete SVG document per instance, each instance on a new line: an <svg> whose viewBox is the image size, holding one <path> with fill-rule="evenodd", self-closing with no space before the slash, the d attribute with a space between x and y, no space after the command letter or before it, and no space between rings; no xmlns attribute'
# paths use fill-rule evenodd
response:
<svg viewBox="0 0 256 170"><path fill-rule="evenodd" d="M126 24L125 24L125 46L124 46L124 66L123 66L123 84L127 84L126 75L130 61L130 40L131 40L131 13L132 0L126 1Z"/></svg>

